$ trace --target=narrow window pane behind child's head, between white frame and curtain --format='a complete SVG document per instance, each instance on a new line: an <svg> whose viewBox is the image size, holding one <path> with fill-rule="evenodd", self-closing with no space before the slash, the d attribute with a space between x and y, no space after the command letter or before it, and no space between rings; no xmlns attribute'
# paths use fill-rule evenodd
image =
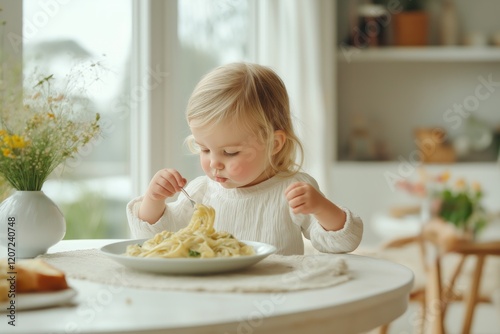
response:
<svg viewBox="0 0 500 334"><path fill-rule="evenodd" d="M180 46L181 112L201 77L216 66L248 59L248 0L179 0L178 40ZM189 134L184 114L183 138ZM197 157L186 157L188 180L202 171Z"/></svg>

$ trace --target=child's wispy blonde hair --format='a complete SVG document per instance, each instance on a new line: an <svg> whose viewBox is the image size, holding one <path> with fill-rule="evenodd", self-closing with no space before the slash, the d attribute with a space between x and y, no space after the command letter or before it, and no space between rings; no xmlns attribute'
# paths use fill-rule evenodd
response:
<svg viewBox="0 0 500 334"><path fill-rule="evenodd" d="M274 172L293 175L302 167L303 148L293 130L288 93L268 67L232 63L214 69L195 87L186 117L188 123L196 120L199 126L236 121L265 145ZM278 130L285 133L286 140L274 153L274 132ZM192 136L187 142L196 152Z"/></svg>

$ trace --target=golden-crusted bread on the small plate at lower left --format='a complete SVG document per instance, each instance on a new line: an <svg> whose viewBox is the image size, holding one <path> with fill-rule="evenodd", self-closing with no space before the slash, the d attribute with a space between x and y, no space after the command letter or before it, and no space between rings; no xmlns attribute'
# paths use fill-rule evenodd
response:
<svg viewBox="0 0 500 334"><path fill-rule="evenodd" d="M7 259L0 260L0 277L7 277ZM14 265L16 272L16 292L57 291L68 288L66 276L61 270L41 259L19 260ZM2 279L0 284L0 301L6 300L9 281ZM5 290L5 291L4 291Z"/></svg>

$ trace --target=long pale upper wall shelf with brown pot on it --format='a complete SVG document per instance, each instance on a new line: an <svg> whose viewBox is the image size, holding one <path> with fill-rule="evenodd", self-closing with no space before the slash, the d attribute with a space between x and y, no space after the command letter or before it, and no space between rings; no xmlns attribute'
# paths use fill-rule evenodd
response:
<svg viewBox="0 0 500 334"><path fill-rule="evenodd" d="M337 59L344 63L370 62L500 62L500 47L380 47L340 46Z"/></svg>

